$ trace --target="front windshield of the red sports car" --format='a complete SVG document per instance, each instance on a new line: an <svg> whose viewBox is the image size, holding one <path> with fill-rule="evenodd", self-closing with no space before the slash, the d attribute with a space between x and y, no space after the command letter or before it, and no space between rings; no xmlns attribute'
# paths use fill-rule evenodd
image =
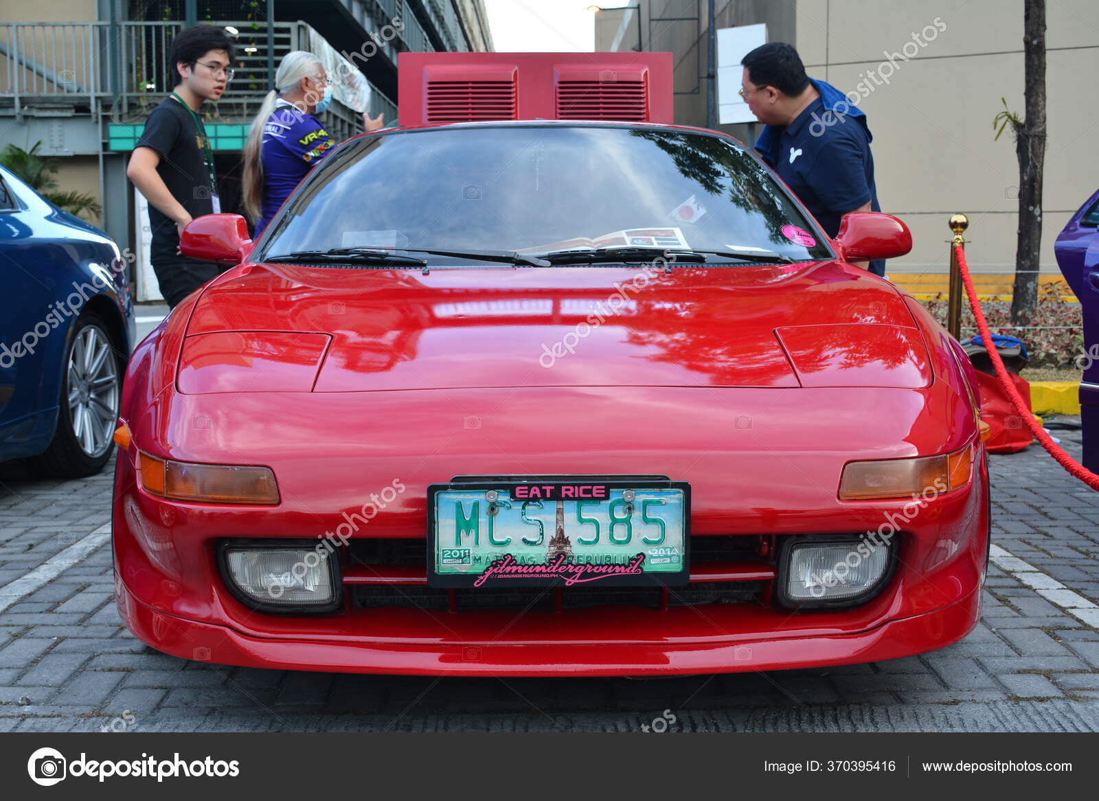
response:
<svg viewBox="0 0 1099 801"><path fill-rule="evenodd" d="M831 258L778 181L735 142L609 126L436 129L353 142L295 193L259 258L341 247Z"/></svg>

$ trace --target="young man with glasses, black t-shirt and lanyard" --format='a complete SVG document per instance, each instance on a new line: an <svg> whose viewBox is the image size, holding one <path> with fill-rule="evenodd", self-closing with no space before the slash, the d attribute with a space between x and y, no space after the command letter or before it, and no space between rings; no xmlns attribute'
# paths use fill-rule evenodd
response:
<svg viewBox="0 0 1099 801"><path fill-rule="evenodd" d="M235 53L224 29L189 27L171 42L173 92L145 121L126 176L148 201L151 260L169 309L227 267L187 258L179 235L193 218L221 211L213 152L199 109L233 78Z"/></svg>

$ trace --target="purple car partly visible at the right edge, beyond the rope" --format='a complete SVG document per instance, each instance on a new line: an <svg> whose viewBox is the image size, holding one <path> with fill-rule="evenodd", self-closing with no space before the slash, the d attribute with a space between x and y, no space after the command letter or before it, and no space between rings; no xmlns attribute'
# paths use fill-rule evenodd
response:
<svg viewBox="0 0 1099 801"><path fill-rule="evenodd" d="M1080 207L1053 246L1057 265L1084 312L1084 366L1080 416L1084 466L1099 471L1099 192Z"/></svg>

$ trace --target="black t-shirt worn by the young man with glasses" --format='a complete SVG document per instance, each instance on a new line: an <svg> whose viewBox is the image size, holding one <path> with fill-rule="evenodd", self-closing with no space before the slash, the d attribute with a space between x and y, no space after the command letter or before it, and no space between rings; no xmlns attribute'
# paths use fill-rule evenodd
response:
<svg viewBox="0 0 1099 801"><path fill-rule="evenodd" d="M135 145L151 147L160 154L156 171L171 197L191 216L213 213L204 140L206 131L199 130L182 103L169 97L153 109ZM148 204L148 222L153 231L151 260L155 263L179 258L176 255L176 247L179 246L176 223L152 203Z"/></svg>

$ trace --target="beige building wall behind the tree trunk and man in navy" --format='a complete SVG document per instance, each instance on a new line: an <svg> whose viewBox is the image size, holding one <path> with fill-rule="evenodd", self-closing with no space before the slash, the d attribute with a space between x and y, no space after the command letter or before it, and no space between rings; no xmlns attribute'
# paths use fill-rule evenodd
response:
<svg viewBox="0 0 1099 801"><path fill-rule="evenodd" d="M640 4L643 20L700 18L654 22L645 49L675 53L676 90L699 86L697 94L676 96L676 120L704 125L706 81L697 76L708 71L706 0ZM888 77L888 84L861 92L858 105L874 133L881 208L908 223L915 243L911 254L889 263L890 271L945 271L946 220L957 211L969 216L970 265L989 272L1014 270L1019 167L1010 131L993 141L992 119L1003 108L1001 98L1011 110L1024 110L1023 0L968 0L957 8L910 0L717 0L715 10L718 29L766 22L770 41L793 44L811 77L843 91L858 91L868 70ZM597 22L597 49L613 40L610 10L597 16L604 13L607 19ZM934 29L936 18L944 30ZM929 33L926 46L906 62L904 43L928 25L936 34L933 41ZM1041 264L1043 271L1056 274L1053 243L1099 186L1099 166L1090 155L1099 134L1099 105L1091 102L1099 67L1099 3L1050 2L1046 25L1048 132ZM635 42L636 34L625 36L620 49ZM893 58L891 76L890 67L881 69L888 57L882 51L902 56ZM717 127L747 143L757 133L751 124Z"/></svg>

